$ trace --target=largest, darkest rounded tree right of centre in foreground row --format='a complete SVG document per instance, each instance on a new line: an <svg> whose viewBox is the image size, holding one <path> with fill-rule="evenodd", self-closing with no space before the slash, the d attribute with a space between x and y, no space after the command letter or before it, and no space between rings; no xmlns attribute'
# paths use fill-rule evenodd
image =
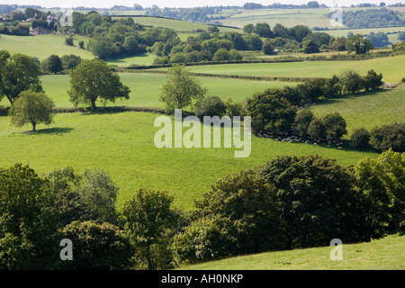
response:
<svg viewBox="0 0 405 288"><path fill-rule="evenodd" d="M355 177L334 159L275 157L257 169L274 186L275 202L287 223L288 247L327 246L363 237L364 215Z"/></svg>

